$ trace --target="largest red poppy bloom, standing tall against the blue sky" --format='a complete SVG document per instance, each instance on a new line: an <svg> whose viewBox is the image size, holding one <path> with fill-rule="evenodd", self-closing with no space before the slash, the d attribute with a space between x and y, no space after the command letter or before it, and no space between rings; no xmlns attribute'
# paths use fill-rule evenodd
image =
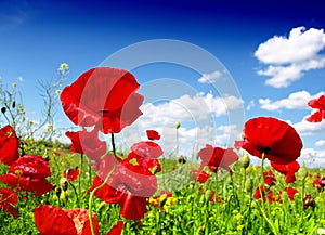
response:
<svg viewBox="0 0 325 235"><path fill-rule="evenodd" d="M104 133L118 133L142 115L140 84L130 73L98 67L83 73L64 88L61 102L65 114L77 126L96 126Z"/></svg>

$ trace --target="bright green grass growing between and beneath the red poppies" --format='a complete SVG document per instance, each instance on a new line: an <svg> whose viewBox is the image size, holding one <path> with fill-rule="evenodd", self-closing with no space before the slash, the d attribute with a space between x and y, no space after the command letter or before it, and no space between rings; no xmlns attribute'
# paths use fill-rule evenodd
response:
<svg viewBox="0 0 325 235"><path fill-rule="evenodd" d="M51 149L47 152L52 171L52 177L49 179L51 183L58 185L62 172L67 168L78 166L82 169L79 179L73 182L76 191L72 185L68 187L67 204L60 203L55 191L41 197L34 197L30 193L20 193L20 203L15 208L18 209L21 217L15 220L0 210L1 234L39 234L35 226L32 211L36 206L42 204L62 208L88 208L87 190L91 186L91 179L95 177L94 172L89 170L88 159L83 158L81 167L80 155L66 151L60 153L61 156L57 157ZM160 206L148 205L148 212L142 220L142 224L139 221L125 220L122 234L313 235L317 234L317 229L325 227L325 193L318 193L312 186L312 178L306 178L303 183L303 170L312 175L317 173L324 175L323 169L300 169L296 173L297 181L290 184L299 191L295 200L289 201L286 193L283 193L283 203L269 204L252 198L255 188L262 184L259 167L248 167L244 179L244 169L239 164L235 164L232 175L221 172L219 175L211 175L205 184L202 184L190 181L190 171L193 167L197 168L197 164L180 165L171 159L161 160L161 164L162 172L158 174L159 191L169 190L172 192L172 197L158 199ZM0 173L5 172L8 167L1 166ZM284 191L287 184L284 175L274 173L277 182L271 190L277 198L277 192ZM0 187L5 185L0 183ZM209 200L212 191L216 191L216 201ZM302 192L304 195L312 194L315 197L314 209L303 209ZM93 205L101 234L106 234L118 220L121 220L119 206L107 205L98 198L94 199Z"/></svg>

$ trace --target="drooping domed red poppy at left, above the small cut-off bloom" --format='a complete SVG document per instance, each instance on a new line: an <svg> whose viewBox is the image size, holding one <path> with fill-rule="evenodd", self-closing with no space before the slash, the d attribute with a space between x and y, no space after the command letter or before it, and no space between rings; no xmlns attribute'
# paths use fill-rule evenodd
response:
<svg viewBox="0 0 325 235"><path fill-rule="evenodd" d="M35 192L35 196L41 196L54 188L46 180L51 175L49 164L40 156L25 155L13 162L9 171L0 180L17 191Z"/></svg>

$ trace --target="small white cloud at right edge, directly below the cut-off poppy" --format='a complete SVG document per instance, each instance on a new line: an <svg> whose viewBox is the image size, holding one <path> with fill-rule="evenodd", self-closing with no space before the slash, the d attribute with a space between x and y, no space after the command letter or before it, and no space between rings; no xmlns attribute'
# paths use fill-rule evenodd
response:
<svg viewBox="0 0 325 235"><path fill-rule="evenodd" d="M301 136L309 136L318 133L325 133L325 121L323 122L309 122L306 120L306 117L302 121L294 123L292 127Z"/></svg>

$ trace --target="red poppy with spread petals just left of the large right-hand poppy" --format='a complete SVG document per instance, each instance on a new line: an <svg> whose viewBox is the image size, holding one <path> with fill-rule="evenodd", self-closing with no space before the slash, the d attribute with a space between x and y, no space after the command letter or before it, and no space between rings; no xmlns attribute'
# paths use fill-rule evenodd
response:
<svg viewBox="0 0 325 235"><path fill-rule="evenodd" d="M216 172L219 168L223 168L231 172L230 165L238 160L238 156L233 148L230 147L223 149L221 147L213 147L209 144L198 152L198 156L203 161L200 170L204 168L204 166L208 166L213 172Z"/></svg>

